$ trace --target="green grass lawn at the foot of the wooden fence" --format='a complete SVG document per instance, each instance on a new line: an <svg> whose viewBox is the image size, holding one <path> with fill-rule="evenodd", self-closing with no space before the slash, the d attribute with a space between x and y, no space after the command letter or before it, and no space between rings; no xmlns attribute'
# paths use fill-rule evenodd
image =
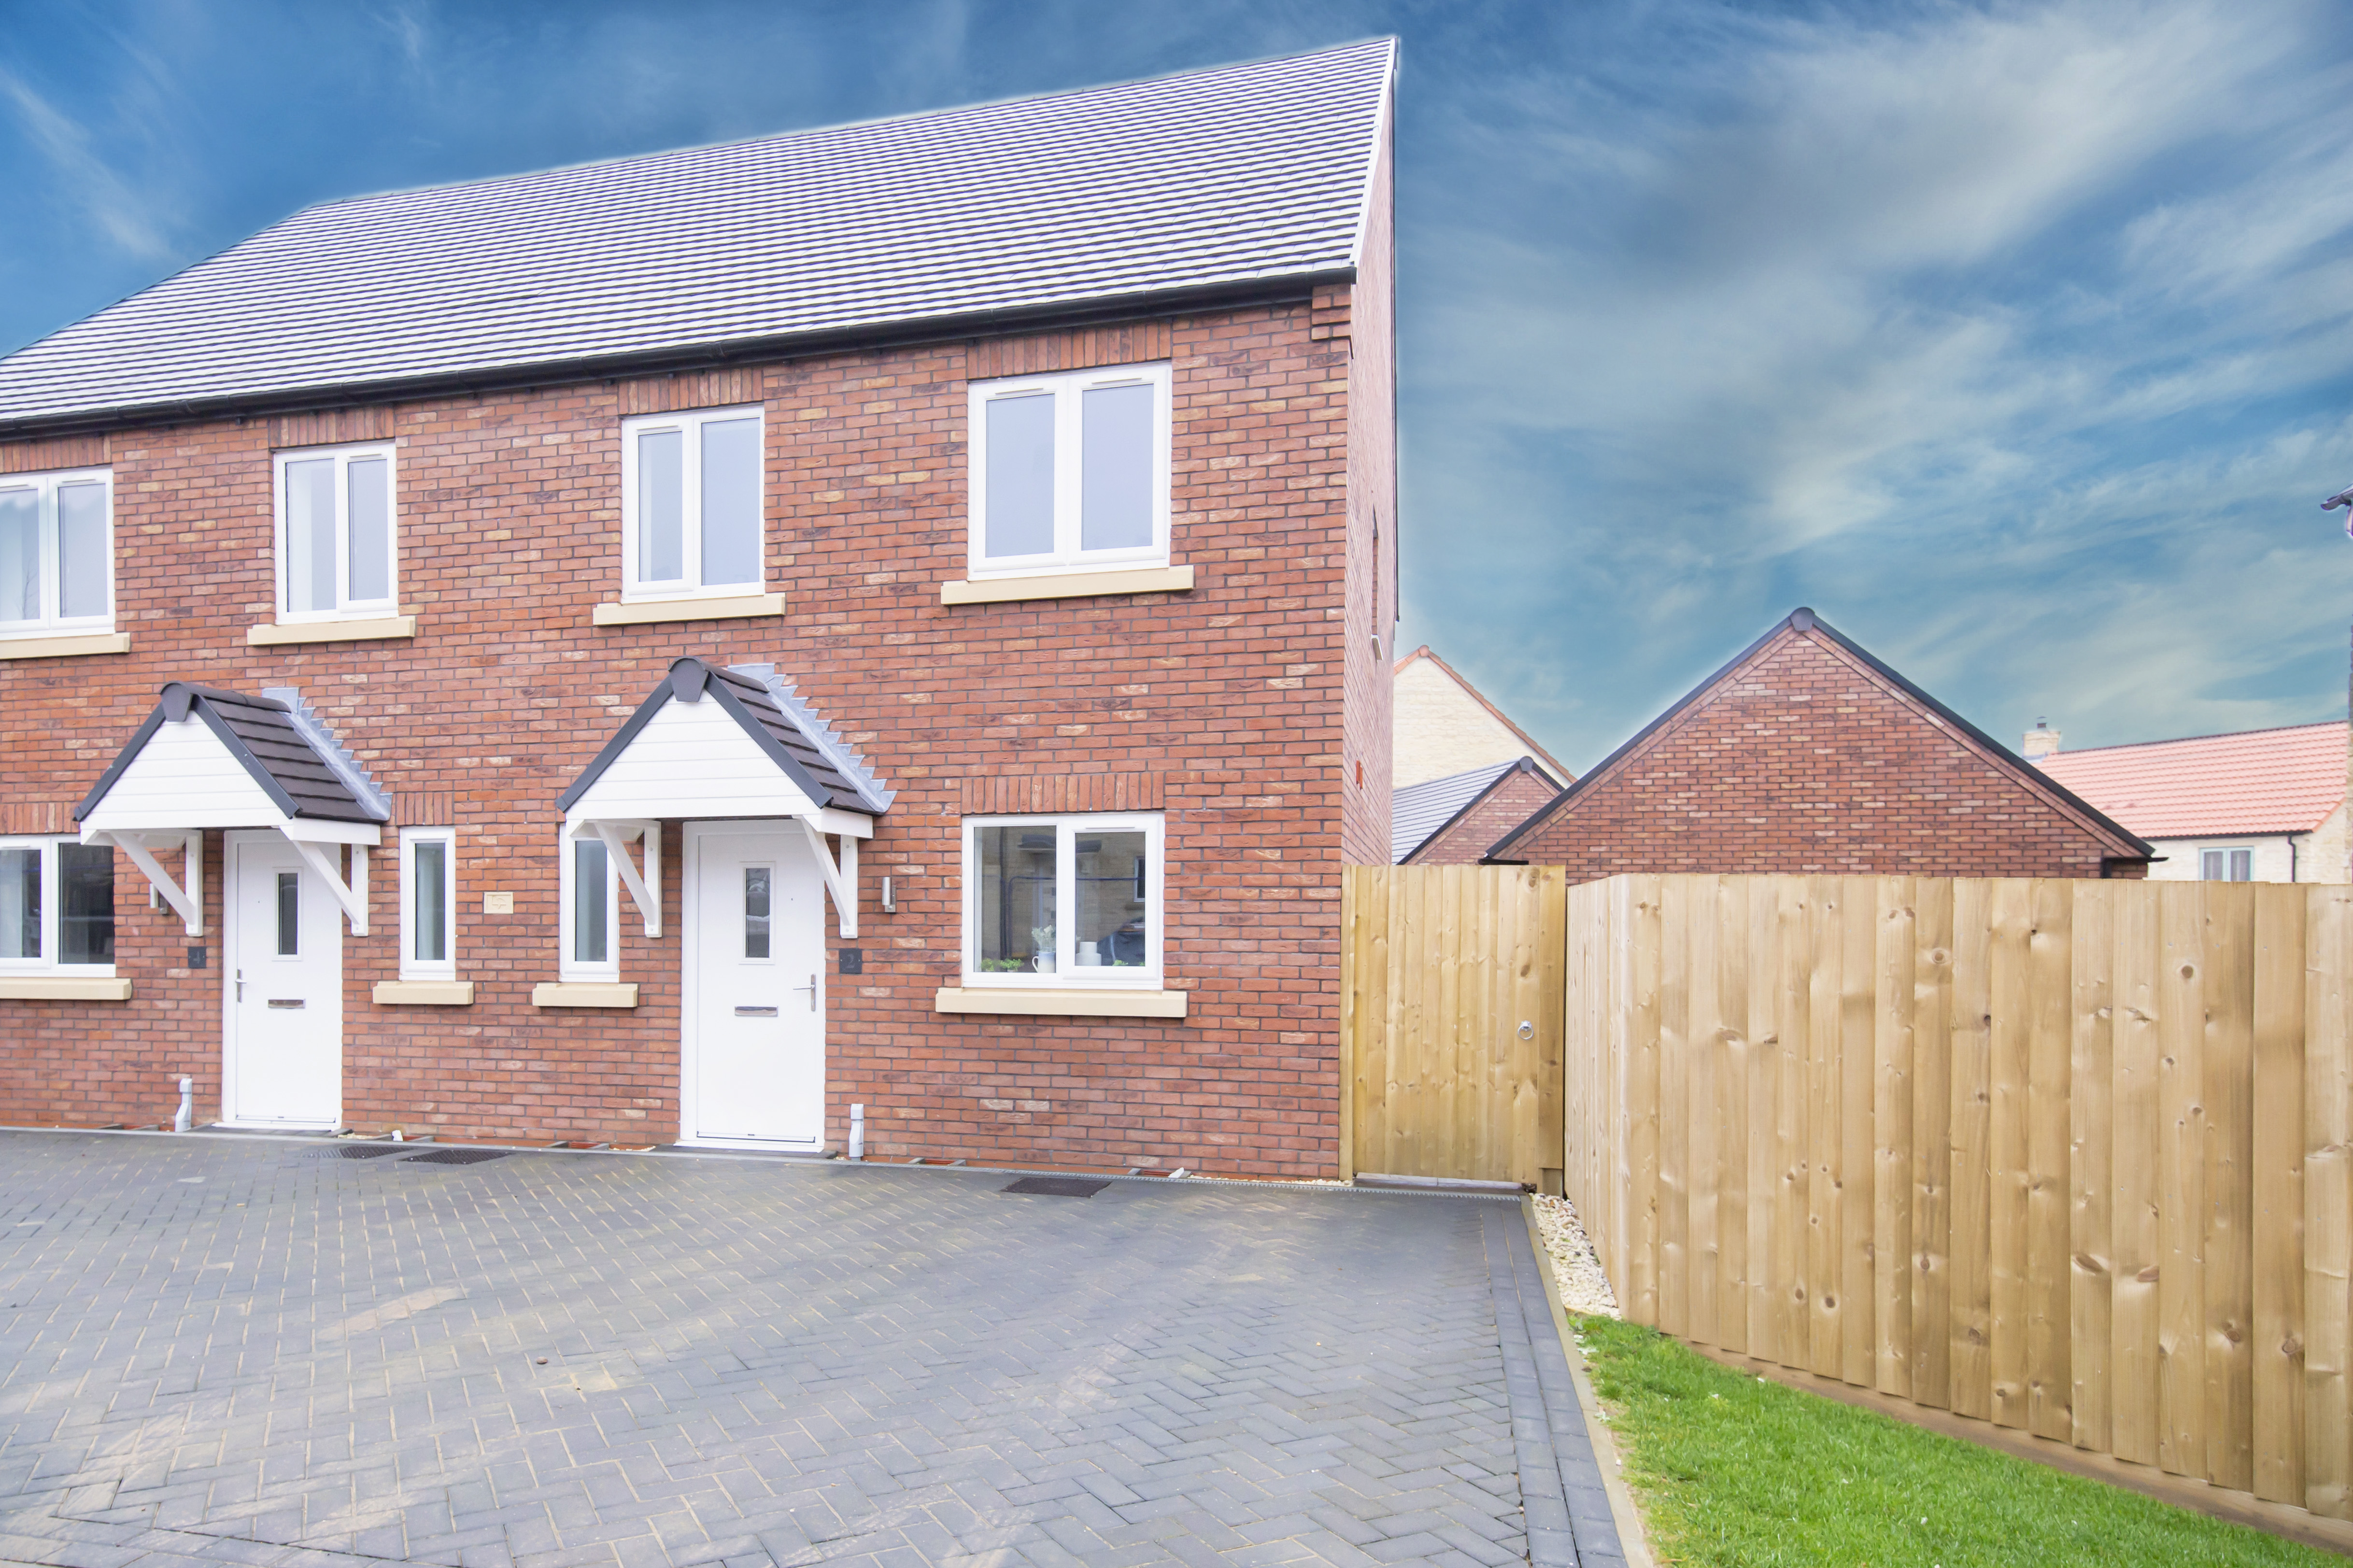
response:
<svg viewBox="0 0 2353 1568"><path fill-rule="evenodd" d="M1661 1563L2078 1568L2344 1559L1572 1316Z"/></svg>

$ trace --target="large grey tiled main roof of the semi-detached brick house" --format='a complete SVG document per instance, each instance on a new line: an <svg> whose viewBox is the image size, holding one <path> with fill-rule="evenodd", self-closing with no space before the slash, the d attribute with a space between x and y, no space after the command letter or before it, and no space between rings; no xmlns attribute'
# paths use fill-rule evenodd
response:
<svg viewBox="0 0 2353 1568"><path fill-rule="evenodd" d="M306 207L0 360L0 430L1344 273L1393 40Z"/></svg>

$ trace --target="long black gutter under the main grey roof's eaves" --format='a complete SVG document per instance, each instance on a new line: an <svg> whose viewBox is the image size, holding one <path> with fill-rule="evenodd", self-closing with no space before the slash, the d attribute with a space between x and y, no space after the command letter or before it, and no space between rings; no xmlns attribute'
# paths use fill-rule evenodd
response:
<svg viewBox="0 0 2353 1568"><path fill-rule="evenodd" d="M922 317L882 327L828 327L821 331L784 331L762 339L727 339L682 348L647 348L626 355L581 355L536 364L508 364L473 371L435 371L431 376L384 376L376 381L339 381L332 386L235 393L221 397L174 397L148 404L120 404L75 414L0 418L0 440L54 440L96 435L144 425L184 425L212 418L268 418L275 414L315 414L358 404L412 402L424 397L464 397L511 393L518 388L572 386L581 381L616 381L621 376L659 376L666 371L708 371L732 364L769 364L824 353L861 348L908 348L972 336L1012 331L1054 331L1099 327L1151 315L1181 315L1238 306L1297 303L1315 296L1327 282L1355 282L1355 268L1292 273L1245 284L1202 289L1153 289L1120 294L1075 306L1021 306L1009 310L974 310L967 315Z"/></svg>

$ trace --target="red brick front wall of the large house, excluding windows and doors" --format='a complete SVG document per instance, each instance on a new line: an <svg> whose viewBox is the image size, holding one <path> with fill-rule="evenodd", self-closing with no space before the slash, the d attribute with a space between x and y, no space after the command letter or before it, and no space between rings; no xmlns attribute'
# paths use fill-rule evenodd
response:
<svg viewBox="0 0 2353 1568"><path fill-rule="evenodd" d="M1174 559L1186 595L944 607L965 576L965 376L974 346L842 353L711 376L449 397L301 421L115 433L127 656L0 663L0 799L47 820L96 780L167 679L299 686L395 795L459 827L468 1009L374 1006L398 973L395 853L374 936L344 938L351 1126L449 1138L678 1133L680 832L666 936L624 896L635 1011L544 1011L558 961L558 792L668 663L774 663L899 790L864 846L866 973L828 980L828 1135L868 1110L875 1154L1329 1173L1337 1135L1337 865L1346 604L1348 341L1268 306L1136 329L1174 362ZM981 346L1059 362L1113 331ZM1132 350L1132 343L1127 343ZM619 590L619 421L767 409L769 588L786 614L593 628ZM1388 421L1388 404L1372 414ZM362 430L365 425L365 430ZM414 642L254 649L273 614L271 444L400 442L400 588ZM21 451L21 449L19 449ZM0 447L0 465L9 451ZM28 458L19 458L28 461ZM1369 755L1386 757L1386 729ZM972 780L1148 773L1167 809L1167 976L1181 1023L939 1016L958 943ZM1073 795L1075 797L1075 795ZM1381 792L1386 802L1386 790ZM426 811L426 806L416 806ZM209 964L118 858L127 1004L0 1001L0 1119L153 1121L176 1074L219 1105L221 842ZM882 877L896 914L878 907ZM482 914L511 891L513 917ZM828 940L833 917L826 922Z"/></svg>

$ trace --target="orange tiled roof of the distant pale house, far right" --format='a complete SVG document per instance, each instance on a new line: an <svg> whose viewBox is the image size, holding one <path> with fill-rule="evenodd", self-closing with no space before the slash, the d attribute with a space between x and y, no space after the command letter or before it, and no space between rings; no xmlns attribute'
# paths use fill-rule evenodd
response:
<svg viewBox="0 0 2353 1568"><path fill-rule="evenodd" d="M2104 745L2045 757L2042 771L2144 839L2311 832L2346 797L2346 726Z"/></svg>

